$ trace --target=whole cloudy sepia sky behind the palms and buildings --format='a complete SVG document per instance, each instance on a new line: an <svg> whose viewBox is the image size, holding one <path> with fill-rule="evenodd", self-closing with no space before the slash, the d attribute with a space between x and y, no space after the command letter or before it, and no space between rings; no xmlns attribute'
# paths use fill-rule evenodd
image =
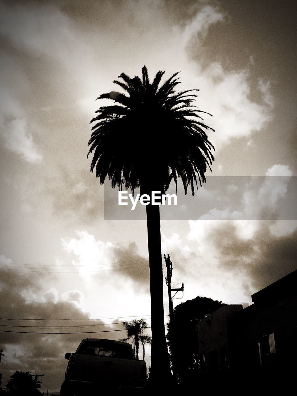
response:
<svg viewBox="0 0 297 396"><path fill-rule="evenodd" d="M31 371L58 391L64 354L82 338L124 338L113 330L133 318L150 326L146 222L104 219L104 188L86 158L96 98L121 72L179 71L179 88L200 89L215 129L206 179L224 177L229 196L228 177L267 176L240 192L247 218L232 217L230 199L206 182L183 200L198 208L216 194L213 207L161 221L173 285L185 284L174 306L200 295L246 307L297 268L296 216L278 213L297 168L296 11L291 0L0 1L0 314L18 319L0 320L4 384ZM250 219L260 211L274 215ZM30 318L77 321L21 320ZM48 327L16 327L26 325ZM88 330L107 332L12 333ZM147 346L148 366L149 355Z"/></svg>

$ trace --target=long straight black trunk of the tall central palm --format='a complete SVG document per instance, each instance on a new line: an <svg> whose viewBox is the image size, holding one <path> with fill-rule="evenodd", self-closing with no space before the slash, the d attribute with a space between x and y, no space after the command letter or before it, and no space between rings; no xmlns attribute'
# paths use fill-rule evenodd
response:
<svg viewBox="0 0 297 396"><path fill-rule="evenodd" d="M156 383L161 385L168 383L172 376L164 326L160 206L149 204L146 209L152 316L150 381L152 385Z"/></svg>

